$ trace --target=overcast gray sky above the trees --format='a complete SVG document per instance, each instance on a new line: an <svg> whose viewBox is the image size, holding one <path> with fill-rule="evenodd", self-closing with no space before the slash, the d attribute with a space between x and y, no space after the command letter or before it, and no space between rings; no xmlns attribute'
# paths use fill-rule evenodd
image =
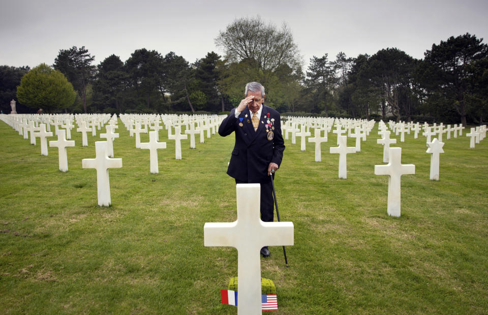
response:
<svg viewBox="0 0 488 315"><path fill-rule="evenodd" d="M174 51L190 62L222 51L214 39L234 19L288 23L306 65L396 47L415 58L450 36L488 36L488 1L0 0L0 65L52 65L59 49L85 46L95 64L136 49ZM484 40L486 43L488 41Z"/></svg>

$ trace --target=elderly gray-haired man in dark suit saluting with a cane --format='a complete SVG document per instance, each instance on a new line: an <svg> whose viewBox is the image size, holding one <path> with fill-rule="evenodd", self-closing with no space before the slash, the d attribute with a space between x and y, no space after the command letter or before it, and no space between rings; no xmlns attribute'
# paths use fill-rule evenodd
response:
<svg viewBox="0 0 488 315"><path fill-rule="evenodd" d="M265 106L264 97L264 86L260 83L246 84L245 99L222 121L219 135L235 133L227 174L236 184L261 184L261 220L272 222L274 207L269 174L280 167L285 142L280 113ZM268 246L261 248L261 255L270 255Z"/></svg>

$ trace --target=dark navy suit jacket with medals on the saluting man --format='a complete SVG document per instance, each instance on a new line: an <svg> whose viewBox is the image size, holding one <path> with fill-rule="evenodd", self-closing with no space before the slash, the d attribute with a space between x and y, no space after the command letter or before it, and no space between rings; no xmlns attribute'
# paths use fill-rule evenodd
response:
<svg viewBox="0 0 488 315"><path fill-rule="evenodd" d="M243 110L239 118L235 118L235 108L231 110L219 127L219 135L222 137L235 134L235 145L230 157L227 174L229 176L248 183L264 183L269 180L268 166L273 162L280 166L285 150L285 141L281 134L280 113L271 107L264 106L259 119L259 127L254 131L251 121L252 113L249 108ZM268 140L266 121L274 118L272 130L274 137ZM247 115L247 116L246 116ZM239 126L242 122L243 126ZM270 130L271 127L268 127Z"/></svg>

